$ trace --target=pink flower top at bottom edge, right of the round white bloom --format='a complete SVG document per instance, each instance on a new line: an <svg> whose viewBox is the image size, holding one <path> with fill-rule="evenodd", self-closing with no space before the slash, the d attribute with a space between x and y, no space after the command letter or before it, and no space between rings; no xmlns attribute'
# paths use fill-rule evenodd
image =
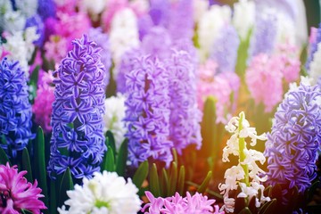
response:
<svg viewBox="0 0 321 214"><path fill-rule="evenodd" d="M218 205L213 204L216 202L214 199L208 199L202 193L186 192L183 198L179 193L168 198L155 198L152 193L145 192L149 200L141 210L144 214L166 214L166 213L193 213L193 214L224 214L220 212Z"/></svg>

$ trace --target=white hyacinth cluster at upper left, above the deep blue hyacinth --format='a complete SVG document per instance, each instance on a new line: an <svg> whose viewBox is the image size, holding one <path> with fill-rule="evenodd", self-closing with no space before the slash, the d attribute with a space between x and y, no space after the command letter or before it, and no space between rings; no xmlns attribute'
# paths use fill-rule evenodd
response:
<svg viewBox="0 0 321 214"><path fill-rule="evenodd" d="M35 50L34 41L38 39L36 27L30 27L25 31L15 31L12 35L8 35L6 43L4 43L4 50L8 51L7 57L12 61L19 61L21 68L29 75L28 62Z"/></svg>

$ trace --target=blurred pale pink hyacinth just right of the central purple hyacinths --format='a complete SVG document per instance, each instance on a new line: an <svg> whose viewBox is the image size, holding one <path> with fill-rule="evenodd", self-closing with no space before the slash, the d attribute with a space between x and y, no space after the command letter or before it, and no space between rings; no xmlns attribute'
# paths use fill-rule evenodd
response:
<svg viewBox="0 0 321 214"><path fill-rule="evenodd" d="M235 73L229 72L228 75L224 73L216 74L217 68L218 64L213 61L208 61L199 67L198 106L202 110L207 97L214 96L217 100L216 122L226 123L228 119L226 111L233 107L231 106L230 95L232 92L236 94L240 83ZM233 78L230 78L231 76Z"/></svg>

